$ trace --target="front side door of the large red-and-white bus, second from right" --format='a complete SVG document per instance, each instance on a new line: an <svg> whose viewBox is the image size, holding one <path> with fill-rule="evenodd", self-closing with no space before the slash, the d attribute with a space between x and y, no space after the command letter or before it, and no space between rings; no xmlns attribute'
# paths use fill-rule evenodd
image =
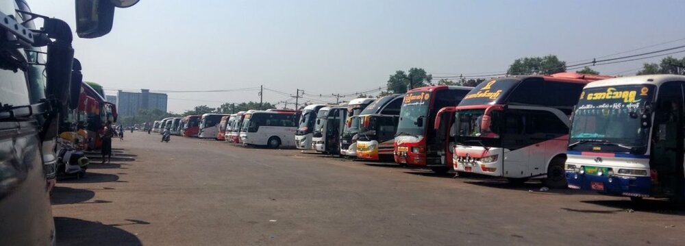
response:
<svg viewBox="0 0 685 246"><path fill-rule="evenodd" d="M526 134L526 125L529 117L524 110L506 110L500 127L502 155L502 175L506 177L527 177L524 175L530 161L529 134Z"/></svg>

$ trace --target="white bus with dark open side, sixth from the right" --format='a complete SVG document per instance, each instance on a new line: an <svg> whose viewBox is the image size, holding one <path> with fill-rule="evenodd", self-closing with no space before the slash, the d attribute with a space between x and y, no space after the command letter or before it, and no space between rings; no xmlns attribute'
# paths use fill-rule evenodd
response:
<svg viewBox="0 0 685 246"><path fill-rule="evenodd" d="M345 125L345 114L345 106L326 106L319 110L312 134L312 149L322 153L340 153L340 132Z"/></svg>

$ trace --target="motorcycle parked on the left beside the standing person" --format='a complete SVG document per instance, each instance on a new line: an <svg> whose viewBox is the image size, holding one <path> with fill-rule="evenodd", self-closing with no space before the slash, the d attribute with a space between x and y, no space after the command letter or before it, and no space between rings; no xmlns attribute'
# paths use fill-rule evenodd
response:
<svg viewBox="0 0 685 246"><path fill-rule="evenodd" d="M86 169L88 169L88 164L90 163L86 153L74 149L73 142L64 138L58 138L57 143L57 174L75 174L77 178L86 175Z"/></svg>

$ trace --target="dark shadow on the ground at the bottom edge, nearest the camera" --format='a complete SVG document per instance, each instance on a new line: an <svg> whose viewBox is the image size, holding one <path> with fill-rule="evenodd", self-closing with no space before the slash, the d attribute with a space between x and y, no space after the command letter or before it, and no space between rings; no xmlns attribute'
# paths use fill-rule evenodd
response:
<svg viewBox="0 0 685 246"><path fill-rule="evenodd" d="M105 225L95 221L55 217L57 245L142 245L138 236L117 228L120 225L149 225L127 219L126 223Z"/></svg>

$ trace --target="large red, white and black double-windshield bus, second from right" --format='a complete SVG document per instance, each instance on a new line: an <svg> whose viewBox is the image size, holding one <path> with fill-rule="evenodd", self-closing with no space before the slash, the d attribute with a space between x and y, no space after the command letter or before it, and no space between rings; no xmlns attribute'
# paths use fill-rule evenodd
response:
<svg viewBox="0 0 685 246"><path fill-rule="evenodd" d="M455 108L454 170L566 187L569 116L583 87L606 78L556 73L479 84Z"/></svg>

